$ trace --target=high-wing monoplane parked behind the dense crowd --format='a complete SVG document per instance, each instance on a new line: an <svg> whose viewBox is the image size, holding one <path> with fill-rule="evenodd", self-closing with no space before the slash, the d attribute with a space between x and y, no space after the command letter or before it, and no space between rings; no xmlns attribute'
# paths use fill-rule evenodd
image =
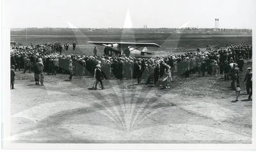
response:
<svg viewBox="0 0 256 152"><path fill-rule="evenodd" d="M126 56L144 56L145 54L152 54L147 52L147 47L160 47L156 43L136 43L136 42L87 42L95 45L101 45L110 48L111 51ZM143 50L138 50L144 47Z"/></svg>

